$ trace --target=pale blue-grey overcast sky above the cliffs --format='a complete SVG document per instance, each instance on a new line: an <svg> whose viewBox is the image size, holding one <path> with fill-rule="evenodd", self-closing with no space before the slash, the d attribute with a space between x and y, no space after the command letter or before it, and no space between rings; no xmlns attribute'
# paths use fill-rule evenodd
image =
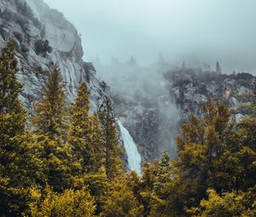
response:
<svg viewBox="0 0 256 217"><path fill-rule="evenodd" d="M188 65L216 60L256 72L256 0L44 0L82 35L84 59L132 55L143 65L161 52Z"/></svg>

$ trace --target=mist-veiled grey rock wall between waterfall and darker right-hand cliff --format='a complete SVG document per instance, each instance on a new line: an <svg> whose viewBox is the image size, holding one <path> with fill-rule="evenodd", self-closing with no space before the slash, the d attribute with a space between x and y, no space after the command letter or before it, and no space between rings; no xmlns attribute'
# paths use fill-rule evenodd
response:
<svg viewBox="0 0 256 217"><path fill-rule="evenodd" d="M174 138L181 115L163 77L170 66L143 67L129 61L98 62L96 68L109 84L116 116L129 130L143 160L153 162L165 150L177 157Z"/></svg>

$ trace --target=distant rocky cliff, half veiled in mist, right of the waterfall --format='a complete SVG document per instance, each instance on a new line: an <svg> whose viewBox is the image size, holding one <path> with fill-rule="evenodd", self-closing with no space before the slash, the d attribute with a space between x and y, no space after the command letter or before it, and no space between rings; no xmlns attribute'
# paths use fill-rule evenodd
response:
<svg viewBox="0 0 256 217"><path fill-rule="evenodd" d="M230 106L237 122L251 112L254 77L249 73L221 74L163 62L149 67L119 62L97 68L111 87L117 117L144 160L153 161L164 150L177 157L174 137L180 123L189 114L200 115L201 103L208 98Z"/></svg>

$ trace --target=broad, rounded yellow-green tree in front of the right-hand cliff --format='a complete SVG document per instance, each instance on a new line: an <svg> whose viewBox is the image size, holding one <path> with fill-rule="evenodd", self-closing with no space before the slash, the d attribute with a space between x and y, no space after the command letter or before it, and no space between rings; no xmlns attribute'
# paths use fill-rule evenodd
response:
<svg viewBox="0 0 256 217"><path fill-rule="evenodd" d="M183 208L196 207L209 188L220 193L246 191L255 185L256 154L246 142L252 131L248 126L241 123L235 127L229 108L211 100L202 106L201 117L191 116L189 123L183 124L175 163L181 183L176 191L183 196Z"/></svg>

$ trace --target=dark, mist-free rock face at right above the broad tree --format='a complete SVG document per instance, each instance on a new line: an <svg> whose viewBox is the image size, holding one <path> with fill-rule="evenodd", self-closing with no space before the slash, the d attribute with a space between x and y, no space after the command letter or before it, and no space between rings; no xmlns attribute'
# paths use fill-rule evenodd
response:
<svg viewBox="0 0 256 217"><path fill-rule="evenodd" d="M183 69L165 74L171 97L183 121L189 114L200 115L201 103L207 99L220 101L231 109L236 122L251 114L255 77L246 72L219 74L215 71Z"/></svg>

